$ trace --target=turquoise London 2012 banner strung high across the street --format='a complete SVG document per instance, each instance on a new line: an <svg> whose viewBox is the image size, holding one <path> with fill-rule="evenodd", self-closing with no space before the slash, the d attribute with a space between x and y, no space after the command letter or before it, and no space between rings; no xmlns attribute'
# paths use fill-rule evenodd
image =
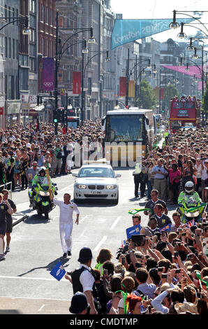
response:
<svg viewBox="0 0 208 329"><path fill-rule="evenodd" d="M179 25L181 22L193 22L193 18L177 18ZM160 20L115 20L112 31L111 49L124 45L146 36L161 33L170 29L172 19Z"/></svg>

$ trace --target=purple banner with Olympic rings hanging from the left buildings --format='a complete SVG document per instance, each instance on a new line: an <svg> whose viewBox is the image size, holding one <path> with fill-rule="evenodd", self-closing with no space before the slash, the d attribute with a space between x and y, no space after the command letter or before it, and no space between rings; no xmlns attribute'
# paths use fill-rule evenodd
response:
<svg viewBox="0 0 208 329"><path fill-rule="evenodd" d="M43 90L54 90L54 57L43 57Z"/></svg>

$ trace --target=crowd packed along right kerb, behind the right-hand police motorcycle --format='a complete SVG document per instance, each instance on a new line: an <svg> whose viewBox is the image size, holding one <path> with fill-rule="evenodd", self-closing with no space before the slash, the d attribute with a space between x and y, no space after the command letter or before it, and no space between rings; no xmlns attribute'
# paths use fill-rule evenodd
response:
<svg viewBox="0 0 208 329"><path fill-rule="evenodd" d="M207 202L207 169L206 128L181 129L170 134L167 145L154 148L142 159L142 189L147 189L149 200L155 188L161 200L177 204L179 191L192 181L202 202Z"/></svg>

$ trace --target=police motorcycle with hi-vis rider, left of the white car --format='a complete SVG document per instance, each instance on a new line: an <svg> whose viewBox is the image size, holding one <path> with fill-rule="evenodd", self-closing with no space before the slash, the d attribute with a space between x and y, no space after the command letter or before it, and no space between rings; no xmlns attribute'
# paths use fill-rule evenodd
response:
<svg viewBox="0 0 208 329"><path fill-rule="evenodd" d="M48 169L41 167L38 174L34 176L32 188L29 189L29 199L31 207L37 211L38 215L44 214L48 219L48 214L55 205L52 202L54 195L57 195L57 184L52 183Z"/></svg>

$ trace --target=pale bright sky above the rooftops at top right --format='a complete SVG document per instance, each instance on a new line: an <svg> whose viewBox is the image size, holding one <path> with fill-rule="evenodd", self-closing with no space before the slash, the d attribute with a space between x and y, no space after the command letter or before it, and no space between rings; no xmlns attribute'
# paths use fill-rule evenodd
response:
<svg viewBox="0 0 208 329"><path fill-rule="evenodd" d="M208 0L110 0L110 6L114 13L123 14L123 19L153 19L153 18L172 18L172 11L184 11L184 10L207 10L208 11ZM192 13L187 13L193 15ZM188 18L183 14L177 14L177 18ZM208 13L203 13L200 20L205 23L208 22ZM197 21L189 23L193 25ZM195 35L200 29L204 29L202 25L193 25L195 27L184 27L184 32L187 36ZM205 25L208 29L208 24ZM205 30L205 29L204 29ZM152 37L156 41L164 42L168 38L172 38L175 41L180 41L177 38L179 29L170 31L164 31L159 34L155 34ZM208 34L208 32L206 32ZM204 40L208 44L208 39Z"/></svg>

